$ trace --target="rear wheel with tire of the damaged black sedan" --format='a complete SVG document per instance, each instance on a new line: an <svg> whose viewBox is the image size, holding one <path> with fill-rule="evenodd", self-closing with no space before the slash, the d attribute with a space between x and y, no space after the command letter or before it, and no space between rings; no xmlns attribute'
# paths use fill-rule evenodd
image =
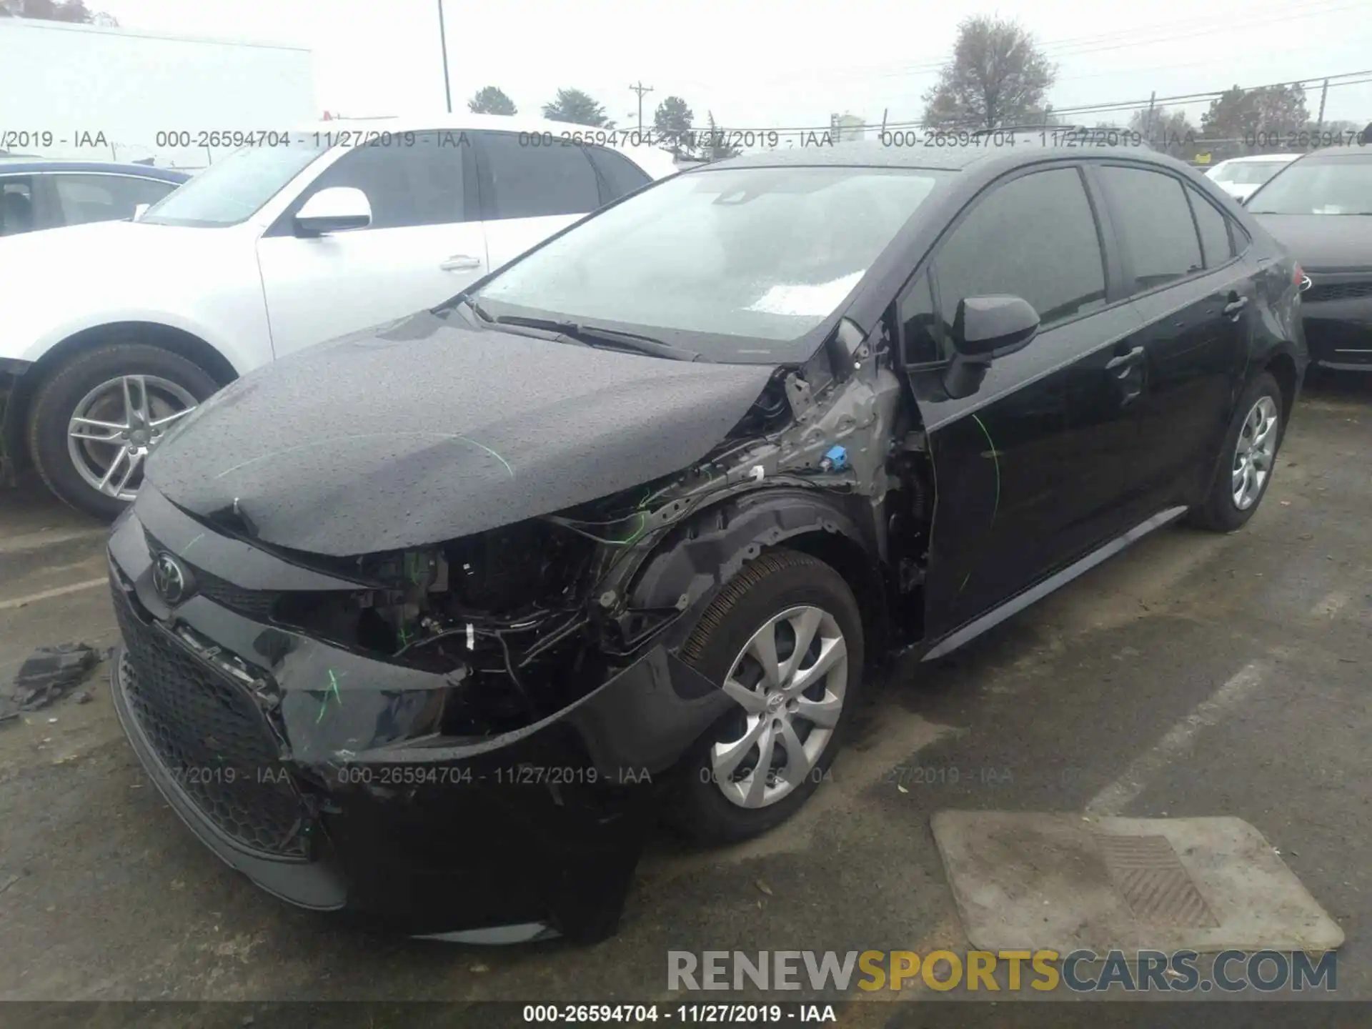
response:
<svg viewBox="0 0 1372 1029"><path fill-rule="evenodd" d="M1194 525L1211 532L1233 532L1253 517L1272 482L1286 429L1281 414L1281 388L1264 372L1249 384L1235 407L1210 493L1191 510Z"/></svg>

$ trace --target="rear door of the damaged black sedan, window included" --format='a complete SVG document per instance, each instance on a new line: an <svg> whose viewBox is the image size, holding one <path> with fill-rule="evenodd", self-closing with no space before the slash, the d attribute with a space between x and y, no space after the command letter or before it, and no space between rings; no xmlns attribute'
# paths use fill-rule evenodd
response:
<svg viewBox="0 0 1372 1029"><path fill-rule="evenodd" d="M1121 350L1137 354L1147 388L1132 473L1146 506L1194 501L1213 471L1242 381L1254 269L1231 221L1181 176L1155 166L1091 167L1110 211L1132 306L1144 328Z"/></svg>

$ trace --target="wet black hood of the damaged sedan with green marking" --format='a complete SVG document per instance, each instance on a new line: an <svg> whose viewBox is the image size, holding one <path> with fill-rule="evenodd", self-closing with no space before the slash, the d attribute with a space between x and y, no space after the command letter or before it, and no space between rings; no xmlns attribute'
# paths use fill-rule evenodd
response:
<svg viewBox="0 0 1372 1029"><path fill-rule="evenodd" d="M148 461L152 486L266 543L351 556L597 499L702 458L772 373L593 350L429 313L261 368Z"/></svg>

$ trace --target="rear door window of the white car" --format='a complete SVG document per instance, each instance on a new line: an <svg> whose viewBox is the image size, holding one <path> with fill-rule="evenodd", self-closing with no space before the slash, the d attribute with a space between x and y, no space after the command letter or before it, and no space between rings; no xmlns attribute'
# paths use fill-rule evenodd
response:
<svg viewBox="0 0 1372 1029"><path fill-rule="evenodd" d="M538 218L586 214L600 207L600 184L586 151L553 140L532 145L513 132L482 133L482 159L491 196L483 198L488 218Z"/></svg>

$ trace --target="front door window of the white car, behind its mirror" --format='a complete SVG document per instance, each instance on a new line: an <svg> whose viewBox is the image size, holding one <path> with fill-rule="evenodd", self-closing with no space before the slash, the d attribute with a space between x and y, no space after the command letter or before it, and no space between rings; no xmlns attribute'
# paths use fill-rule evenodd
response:
<svg viewBox="0 0 1372 1029"><path fill-rule="evenodd" d="M372 206L365 230L465 221L464 145L453 133L416 133L413 145L359 145L325 169L292 213L320 189L353 187Z"/></svg>

